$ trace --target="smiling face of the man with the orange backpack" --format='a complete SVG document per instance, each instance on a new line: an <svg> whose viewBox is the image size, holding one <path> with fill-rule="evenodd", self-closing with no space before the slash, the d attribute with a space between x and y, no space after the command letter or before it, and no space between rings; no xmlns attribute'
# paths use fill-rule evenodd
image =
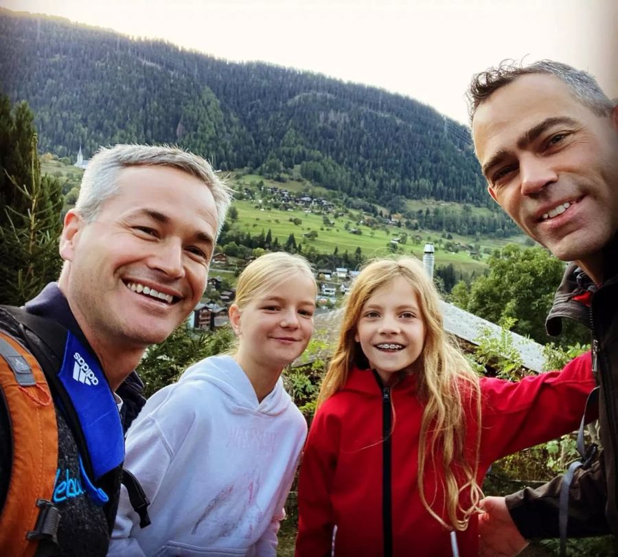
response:
<svg viewBox="0 0 618 557"><path fill-rule="evenodd" d="M95 351L163 341L199 302L217 229L205 183L165 166L130 166L86 223L65 218L60 288Z"/></svg>

